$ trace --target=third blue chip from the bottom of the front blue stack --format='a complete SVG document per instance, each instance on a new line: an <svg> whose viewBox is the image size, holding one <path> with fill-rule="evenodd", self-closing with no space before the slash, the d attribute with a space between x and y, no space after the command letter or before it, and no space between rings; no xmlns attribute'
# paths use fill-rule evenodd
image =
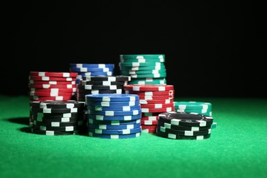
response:
<svg viewBox="0 0 267 178"><path fill-rule="evenodd" d="M140 128L141 123L129 124L129 125L101 125L101 124L90 124L88 123L88 128L92 129L136 129Z"/></svg>

